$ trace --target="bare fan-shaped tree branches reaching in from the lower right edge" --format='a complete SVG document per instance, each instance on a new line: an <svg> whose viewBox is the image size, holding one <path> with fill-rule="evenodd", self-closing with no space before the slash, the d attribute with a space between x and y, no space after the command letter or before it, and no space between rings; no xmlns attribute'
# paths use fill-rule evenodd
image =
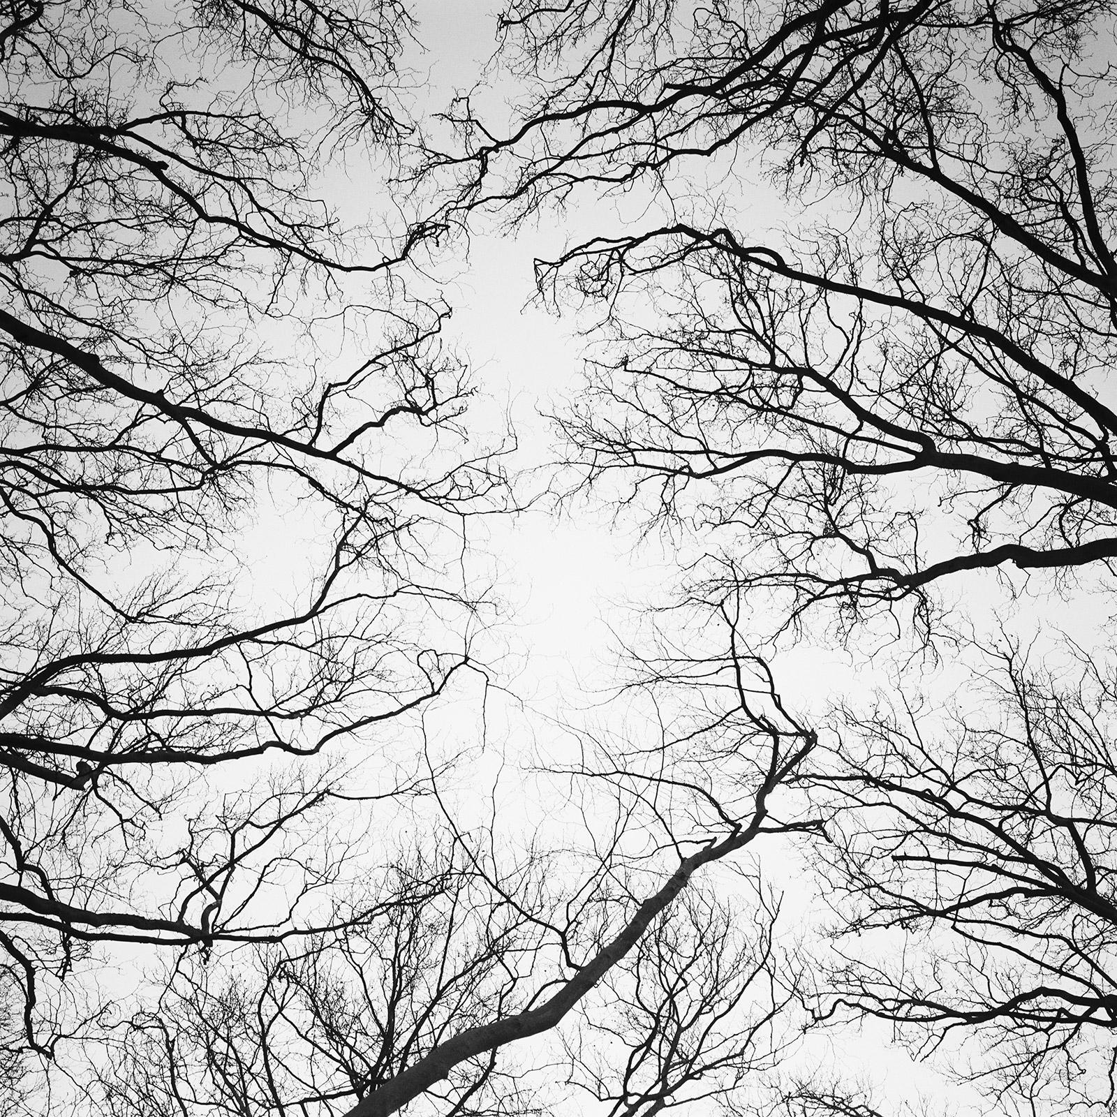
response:
<svg viewBox="0 0 1117 1117"><path fill-rule="evenodd" d="M1041 1111L1109 1105L1115 713L1110 661L1031 666L1012 643L937 717L910 700L846 712L819 786L848 958L820 1014L852 1006L917 1050L965 1028L994 1090ZM906 964L881 949L897 932L920 945Z"/></svg>

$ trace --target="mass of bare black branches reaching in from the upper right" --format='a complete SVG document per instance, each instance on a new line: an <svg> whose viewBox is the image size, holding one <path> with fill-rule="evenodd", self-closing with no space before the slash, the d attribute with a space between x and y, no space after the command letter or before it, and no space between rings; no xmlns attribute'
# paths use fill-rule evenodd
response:
<svg viewBox="0 0 1117 1117"><path fill-rule="evenodd" d="M789 619L907 599L930 620L961 571L1107 563L1106 11L512 6L542 92L507 139L459 106L470 157L432 160L451 208L655 187L674 214L540 265L608 306L567 418L590 476L734 537L734 579ZM840 214L738 228L731 161L754 153ZM698 175L719 187L695 202Z"/></svg>

